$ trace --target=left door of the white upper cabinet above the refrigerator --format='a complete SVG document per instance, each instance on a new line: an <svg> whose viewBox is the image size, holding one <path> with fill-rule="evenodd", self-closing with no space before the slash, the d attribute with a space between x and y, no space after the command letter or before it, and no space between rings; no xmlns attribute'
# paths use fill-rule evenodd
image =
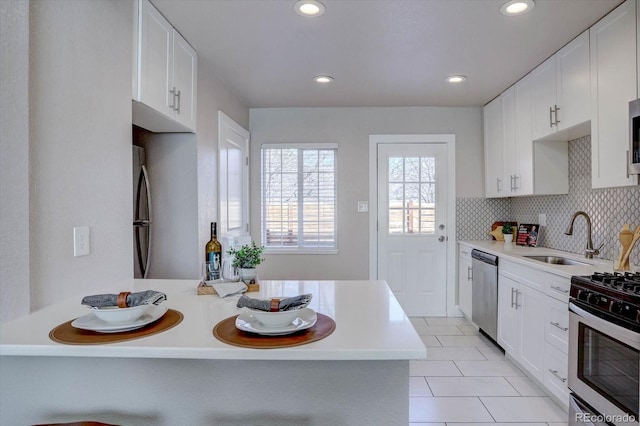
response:
<svg viewBox="0 0 640 426"><path fill-rule="evenodd" d="M141 2L138 101L169 117L173 96L171 24L148 1Z"/></svg>

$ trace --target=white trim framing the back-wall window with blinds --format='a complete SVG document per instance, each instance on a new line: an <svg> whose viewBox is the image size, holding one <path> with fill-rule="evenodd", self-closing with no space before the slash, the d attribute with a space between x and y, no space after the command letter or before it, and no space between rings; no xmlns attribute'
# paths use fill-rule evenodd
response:
<svg viewBox="0 0 640 426"><path fill-rule="evenodd" d="M264 179L264 154L265 149L298 149L298 150L334 150L334 245L325 247L274 247L267 246L265 241L264 230L264 192L263 192L263 179ZM298 223L300 218L298 217ZM284 143L263 143L260 145L260 239L262 245L265 247L265 254L338 254L338 144L333 142L321 142L321 143L300 143L300 142L284 142Z"/></svg>

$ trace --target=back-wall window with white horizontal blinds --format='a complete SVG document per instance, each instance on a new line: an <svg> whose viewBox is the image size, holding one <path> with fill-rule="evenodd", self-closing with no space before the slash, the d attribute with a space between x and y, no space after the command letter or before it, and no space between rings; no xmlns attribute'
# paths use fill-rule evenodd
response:
<svg viewBox="0 0 640 426"><path fill-rule="evenodd" d="M336 144L262 146L262 241L267 250L332 251Z"/></svg>

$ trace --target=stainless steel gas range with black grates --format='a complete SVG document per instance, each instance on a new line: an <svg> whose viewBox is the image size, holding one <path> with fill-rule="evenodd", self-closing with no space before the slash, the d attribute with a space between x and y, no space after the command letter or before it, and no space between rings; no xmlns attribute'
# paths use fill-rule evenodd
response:
<svg viewBox="0 0 640 426"><path fill-rule="evenodd" d="M571 278L569 423L638 425L640 273Z"/></svg>

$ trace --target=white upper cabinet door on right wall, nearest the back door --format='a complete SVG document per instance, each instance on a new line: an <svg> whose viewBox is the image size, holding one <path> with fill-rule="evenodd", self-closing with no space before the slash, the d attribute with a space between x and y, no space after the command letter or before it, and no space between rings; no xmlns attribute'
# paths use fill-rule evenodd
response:
<svg viewBox="0 0 640 426"><path fill-rule="evenodd" d="M504 197L502 105L496 98L484 107L485 196Z"/></svg>

